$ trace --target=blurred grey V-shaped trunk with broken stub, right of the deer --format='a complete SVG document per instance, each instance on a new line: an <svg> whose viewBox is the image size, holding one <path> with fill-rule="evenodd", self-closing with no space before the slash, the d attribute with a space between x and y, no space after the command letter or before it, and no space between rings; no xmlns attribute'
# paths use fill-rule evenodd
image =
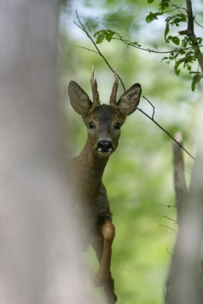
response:
<svg viewBox="0 0 203 304"><path fill-rule="evenodd" d="M180 147L174 144L174 181L179 232L167 278L165 303L201 304L203 294L198 256L203 236L203 104L199 122L198 151L189 192L184 181Z"/></svg>

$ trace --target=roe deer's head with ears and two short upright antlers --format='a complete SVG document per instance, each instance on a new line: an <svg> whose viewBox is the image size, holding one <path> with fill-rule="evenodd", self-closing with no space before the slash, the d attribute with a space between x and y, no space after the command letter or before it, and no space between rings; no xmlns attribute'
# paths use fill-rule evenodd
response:
<svg viewBox="0 0 203 304"><path fill-rule="evenodd" d="M117 146L121 134L121 126L126 116L132 114L139 104L141 86L136 83L128 89L116 102L118 76L114 71L115 82L108 105L101 105L97 82L94 79L94 67L91 74L93 102L86 92L75 82L70 81L68 94L75 112L82 116L88 130L88 143L93 153L106 157L112 154Z"/></svg>

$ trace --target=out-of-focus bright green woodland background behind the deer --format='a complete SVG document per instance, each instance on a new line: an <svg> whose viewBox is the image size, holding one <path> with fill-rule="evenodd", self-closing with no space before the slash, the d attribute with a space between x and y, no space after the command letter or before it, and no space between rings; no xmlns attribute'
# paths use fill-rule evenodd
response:
<svg viewBox="0 0 203 304"><path fill-rule="evenodd" d="M185 5L184 1L176 1L176 4L181 3ZM201 1L192 4L193 15L198 21L202 18ZM94 76L103 103L108 103L114 83L114 74L103 58L81 48L96 51L86 33L75 25L74 21L79 24L75 10L92 38L96 31L107 27L124 39L138 42L143 48L172 50L176 46L164 41L166 16L149 24L145 21L150 11L157 12L158 9L159 1L147 4L142 0L80 0L63 5L58 42L58 83L67 110L65 129L69 130L67 139L72 157L82 150L87 130L82 118L70 106L69 81L76 81L92 99L90 75L94 64ZM186 24L180 23L179 28L171 29L171 33L177 35L177 31L185 28ZM198 27L195 33L198 36ZM195 156L200 88L197 84L195 93L192 92L192 77L187 71L180 67L177 77L173 63L161 62L163 54L127 47L119 40L104 40L97 46L110 66L116 66L126 89L136 82L141 84L141 96L148 98L155 107L154 119L172 136L177 131L182 132L184 147ZM120 84L117 98L123 92ZM152 116L152 106L143 97L139 108ZM186 153L184 161L189 185L194 161ZM173 230L178 228L171 220L176 220L171 138L141 112L135 111L121 128L119 146L108 161L103 182L116 227L111 270L118 304L162 303L162 287L165 287L176 238ZM93 275L98 262L92 248L84 258ZM102 292L102 288L95 292Z"/></svg>

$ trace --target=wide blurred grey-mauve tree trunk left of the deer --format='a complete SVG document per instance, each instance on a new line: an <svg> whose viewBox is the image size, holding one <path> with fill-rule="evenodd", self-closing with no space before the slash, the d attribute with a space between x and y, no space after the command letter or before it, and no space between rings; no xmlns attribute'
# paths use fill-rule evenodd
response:
<svg viewBox="0 0 203 304"><path fill-rule="evenodd" d="M0 5L1 303L91 302L68 209L55 79L59 4Z"/></svg>

